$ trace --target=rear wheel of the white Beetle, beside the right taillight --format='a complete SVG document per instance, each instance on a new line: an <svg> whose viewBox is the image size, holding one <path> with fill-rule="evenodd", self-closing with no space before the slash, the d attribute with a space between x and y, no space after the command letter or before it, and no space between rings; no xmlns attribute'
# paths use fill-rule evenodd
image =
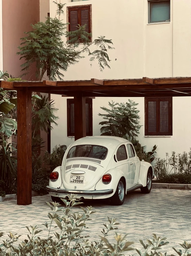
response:
<svg viewBox="0 0 191 256"><path fill-rule="evenodd" d="M113 205L122 205L125 200L125 183L120 179L115 194L111 197Z"/></svg>

